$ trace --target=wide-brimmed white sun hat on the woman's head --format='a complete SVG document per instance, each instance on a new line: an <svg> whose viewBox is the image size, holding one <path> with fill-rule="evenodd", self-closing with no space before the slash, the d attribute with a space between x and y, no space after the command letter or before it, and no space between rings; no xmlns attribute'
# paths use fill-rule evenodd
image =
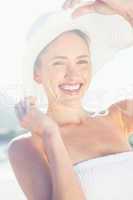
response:
<svg viewBox="0 0 133 200"><path fill-rule="evenodd" d="M96 74L121 49L133 45L133 28L119 15L89 13L72 18L74 9L58 10L41 16L32 26L28 36L23 62L25 91L40 95L33 80L35 61L40 52L64 32L80 30L90 39L92 75ZM71 48L71 44L70 44ZM27 92L28 93L28 92Z"/></svg>

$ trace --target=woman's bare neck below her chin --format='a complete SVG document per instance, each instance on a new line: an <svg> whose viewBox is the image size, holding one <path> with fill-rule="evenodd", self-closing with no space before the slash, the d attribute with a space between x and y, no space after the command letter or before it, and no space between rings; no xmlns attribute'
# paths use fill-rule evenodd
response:
<svg viewBox="0 0 133 200"><path fill-rule="evenodd" d="M78 106L67 105L49 105L47 115L54 119L59 125L81 124L86 120L87 111L81 104Z"/></svg>

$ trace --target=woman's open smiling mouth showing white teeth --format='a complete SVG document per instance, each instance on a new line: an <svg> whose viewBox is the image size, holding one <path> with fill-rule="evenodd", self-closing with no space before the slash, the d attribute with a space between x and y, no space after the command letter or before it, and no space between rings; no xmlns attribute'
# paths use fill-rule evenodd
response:
<svg viewBox="0 0 133 200"><path fill-rule="evenodd" d="M78 94L80 92L82 85L83 85L83 83L61 84L61 85L59 85L59 88L65 94L75 95L75 94Z"/></svg>

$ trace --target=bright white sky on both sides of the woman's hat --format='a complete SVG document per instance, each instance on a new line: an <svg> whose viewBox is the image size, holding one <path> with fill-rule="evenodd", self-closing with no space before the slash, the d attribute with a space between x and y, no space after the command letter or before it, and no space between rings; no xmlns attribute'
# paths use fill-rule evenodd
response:
<svg viewBox="0 0 133 200"><path fill-rule="evenodd" d="M0 91L15 95L21 88L22 54L29 27L44 12L61 7L63 0L4 0L0 7ZM133 85L133 47L106 65L92 82L92 89ZM22 92L22 91L21 91Z"/></svg>

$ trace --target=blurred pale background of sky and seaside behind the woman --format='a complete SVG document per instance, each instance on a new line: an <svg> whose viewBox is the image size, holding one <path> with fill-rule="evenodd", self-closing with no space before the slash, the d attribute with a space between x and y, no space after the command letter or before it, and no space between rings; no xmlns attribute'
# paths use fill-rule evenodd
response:
<svg viewBox="0 0 133 200"><path fill-rule="evenodd" d="M26 34L36 18L59 9L63 0L4 0L0 6L0 197L25 200L8 161L7 148L16 136L26 134L18 123L14 105L24 95L21 82L22 53ZM104 109L133 97L133 47L121 51L93 80L85 101ZM129 138L133 145L133 138Z"/></svg>

